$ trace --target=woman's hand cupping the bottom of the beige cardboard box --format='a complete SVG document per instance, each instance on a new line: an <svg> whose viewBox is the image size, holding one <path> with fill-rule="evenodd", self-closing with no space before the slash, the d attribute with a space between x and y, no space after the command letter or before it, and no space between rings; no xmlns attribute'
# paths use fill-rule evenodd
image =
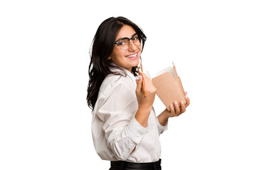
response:
<svg viewBox="0 0 256 170"><path fill-rule="evenodd" d="M185 92L185 95L187 95L187 94L188 93ZM182 113L186 112L186 107L189 106L190 100L189 100L188 96L185 96L185 98L186 98L186 104L183 101L181 101L181 106L178 106L178 103L175 101L174 104L170 105L171 111L167 111L167 109L166 109L167 112L165 112L165 113L166 113L166 116L168 116L168 118L175 117L175 116L181 115Z"/></svg>

